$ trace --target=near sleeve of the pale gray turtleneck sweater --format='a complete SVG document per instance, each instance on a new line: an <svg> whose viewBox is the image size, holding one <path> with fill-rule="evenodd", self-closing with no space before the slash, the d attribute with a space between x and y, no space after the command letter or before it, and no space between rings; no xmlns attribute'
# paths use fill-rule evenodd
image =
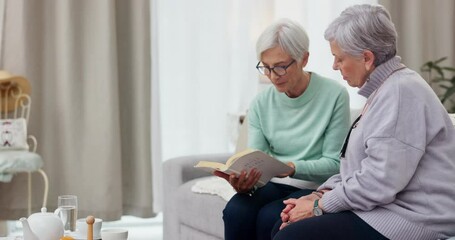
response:
<svg viewBox="0 0 455 240"><path fill-rule="evenodd" d="M325 194L326 212L372 210L396 199L414 176L426 146L425 104L412 90L385 87L351 133L341 181Z"/></svg>

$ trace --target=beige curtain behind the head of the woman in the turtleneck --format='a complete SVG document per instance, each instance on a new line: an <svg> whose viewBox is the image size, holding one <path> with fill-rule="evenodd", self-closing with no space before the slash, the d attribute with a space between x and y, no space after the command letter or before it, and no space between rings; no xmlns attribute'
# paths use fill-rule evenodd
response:
<svg viewBox="0 0 455 240"><path fill-rule="evenodd" d="M413 70L427 61L448 57L455 66L455 1L379 0L398 32L398 55Z"/></svg>

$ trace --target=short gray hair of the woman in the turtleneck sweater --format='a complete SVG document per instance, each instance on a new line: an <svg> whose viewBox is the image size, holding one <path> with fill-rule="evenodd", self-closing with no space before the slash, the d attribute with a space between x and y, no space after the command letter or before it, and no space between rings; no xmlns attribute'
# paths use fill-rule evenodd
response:
<svg viewBox="0 0 455 240"><path fill-rule="evenodd" d="M335 41L351 56L370 50L379 66L397 53L397 32L390 14L381 5L354 5L345 9L325 30L324 37Z"/></svg>

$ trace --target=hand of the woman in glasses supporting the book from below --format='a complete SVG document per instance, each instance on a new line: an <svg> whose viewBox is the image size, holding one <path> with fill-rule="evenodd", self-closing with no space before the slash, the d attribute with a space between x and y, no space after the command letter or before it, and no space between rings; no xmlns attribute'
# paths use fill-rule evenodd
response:
<svg viewBox="0 0 455 240"><path fill-rule="evenodd" d="M246 171L242 171L238 177L235 175L235 173L227 174L220 171L215 171L213 174L215 176L226 179L226 181L228 181L238 193L250 192L262 175L261 172L254 168L251 169L248 174Z"/></svg>

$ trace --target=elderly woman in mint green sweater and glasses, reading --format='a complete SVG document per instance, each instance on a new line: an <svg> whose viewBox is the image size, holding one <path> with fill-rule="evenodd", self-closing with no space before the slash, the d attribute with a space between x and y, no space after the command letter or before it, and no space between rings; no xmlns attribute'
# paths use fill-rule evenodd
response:
<svg viewBox="0 0 455 240"><path fill-rule="evenodd" d="M215 173L237 194L223 211L225 239L270 239L283 200L311 193L339 172L339 152L349 130L349 95L332 79L303 70L309 58L303 28L287 19L257 41L256 68L273 86L248 111L248 146L286 162L293 171L254 189L260 172ZM303 190L302 190L303 189ZM252 193L254 191L254 193Z"/></svg>

